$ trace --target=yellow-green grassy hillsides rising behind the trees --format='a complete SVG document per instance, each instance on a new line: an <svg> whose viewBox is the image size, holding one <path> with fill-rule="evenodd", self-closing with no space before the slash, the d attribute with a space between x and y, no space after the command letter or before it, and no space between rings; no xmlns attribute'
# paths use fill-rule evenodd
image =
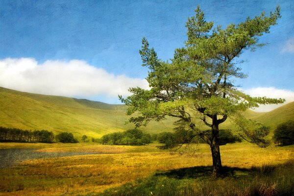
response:
<svg viewBox="0 0 294 196"><path fill-rule="evenodd" d="M69 131L77 136L100 137L106 133L133 128L124 105L113 105L87 99L24 93L0 87L0 126L22 129L47 129L54 133ZM247 118L265 123L271 130L279 123L294 119L294 102L267 113L245 111ZM149 132L170 131L173 119L152 122L142 129ZM204 127L203 128L207 128ZM232 129L228 121L223 129Z"/></svg>

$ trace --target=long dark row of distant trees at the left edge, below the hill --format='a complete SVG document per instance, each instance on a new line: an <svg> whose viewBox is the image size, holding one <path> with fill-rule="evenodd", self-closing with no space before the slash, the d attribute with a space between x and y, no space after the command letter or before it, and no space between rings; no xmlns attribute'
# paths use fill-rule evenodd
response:
<svg viewBox="0 0 294 196"><path fill-rule="evenodd" d="M22 130L18 128L5 128L0 126L0 141L4 142L44 142L54 140L54 134L48 130Z"/></svg>

